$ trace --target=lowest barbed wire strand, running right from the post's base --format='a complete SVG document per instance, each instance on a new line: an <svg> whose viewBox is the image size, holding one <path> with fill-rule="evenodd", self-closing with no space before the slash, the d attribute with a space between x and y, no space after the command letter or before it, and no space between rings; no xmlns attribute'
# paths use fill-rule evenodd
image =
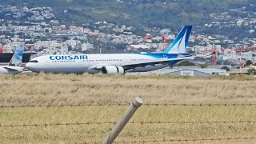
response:
<svg viewBox="0 0 256 144"><path fill-rule="evenodd" d="M146 142L198 142L198 141L234 141L234 140L252 140L256 137L245 138L185 138L185 139L163 139L163 140L145 140L145 141L123 141L114 143L146 143Z"/></svg>

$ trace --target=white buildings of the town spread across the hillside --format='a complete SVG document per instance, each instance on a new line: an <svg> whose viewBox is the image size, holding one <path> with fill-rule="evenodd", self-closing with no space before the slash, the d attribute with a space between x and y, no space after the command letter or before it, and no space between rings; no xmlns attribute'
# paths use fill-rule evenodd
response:
<svg viewBox="0 0 256 144"><path fill-rule="evenodd" d="M232 12L247 14L248 18L234 19ZM171 29L143 26L145 35L137 35L134 34L133 26L117 26L106 21L75 26L56 18L51 7L0 6L0 14L4 14L0 19L0 52L3 53L12 52L16 42L24 42L26 52L46 54L86 53L87 50L102 48L102 44L111 48L115 46L114 49L124 46L123 50L130 52L161 52L166 50L178 34L178 31ZM210 14L214 21L205 26L251 26L248 33L253 34L256 30L252 26L256 24L253 16L246 8L229 10L221 14ZM238 65L240 59L256 63L256 38L234 40L225 35L193 33L187 52L215 52L220 64Z"/></svg>

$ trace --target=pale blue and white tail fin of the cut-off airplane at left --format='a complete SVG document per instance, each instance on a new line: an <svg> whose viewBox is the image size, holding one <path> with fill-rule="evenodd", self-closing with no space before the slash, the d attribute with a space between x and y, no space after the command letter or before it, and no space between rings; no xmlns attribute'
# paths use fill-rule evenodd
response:
<svg viewBox="0 0 256 144"><path fill-rule="evenodd" d="M10 59L8 66L20 66L22 64L22 57L24 53L24 43L18 43L13 57Z"/></svg>

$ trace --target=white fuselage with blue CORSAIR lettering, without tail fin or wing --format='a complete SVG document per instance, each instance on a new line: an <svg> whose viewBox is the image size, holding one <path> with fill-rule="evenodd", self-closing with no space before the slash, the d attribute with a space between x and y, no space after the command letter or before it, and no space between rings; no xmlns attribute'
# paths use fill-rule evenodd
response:
<svg viewBox="0 0 256 144"><path fill-rule="evenodd" d="M148 54L66 54L45 55L32 59L26 64L28 70L45 73L100 73L96 67L122 66L129 62L143 62L156 59ZM168 66L156 64L154 66L142 66L127 70L126 72L144 72L158 70Z"/></svg>

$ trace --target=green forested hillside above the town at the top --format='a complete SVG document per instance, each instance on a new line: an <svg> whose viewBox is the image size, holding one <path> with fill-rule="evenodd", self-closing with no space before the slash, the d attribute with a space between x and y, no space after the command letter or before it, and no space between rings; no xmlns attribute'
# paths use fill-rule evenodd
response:
<svg viewBox="0 0 256 144"><path fill-rule="evenodd" d="M50 6L54 9L57 18L65 22L85 22L106 21L118 25L127 26L150 26L150 27L170 27L180 29L183 25L193 25L198 31L209 33L229 34L232 27L226 27L228 31L208 29L206 24L221 21L225 18L214 18L220 14L228 12L231 21L235 18L253 17L256 11L256 1L254 0L0 0L1 5L12 6ZM244 6L246 8L244 8ZM232 9L248 12L239 13ZM68 12L64 14L64 10ZM225 14L223 15L225 17ZM253 26L252 26L253 27ZM251 27L242 27L250 29ZM207 31L208 30L208 31ZM238 31L239 31L238 30ZM239 32L240 33L240 32Z"/></svg>

